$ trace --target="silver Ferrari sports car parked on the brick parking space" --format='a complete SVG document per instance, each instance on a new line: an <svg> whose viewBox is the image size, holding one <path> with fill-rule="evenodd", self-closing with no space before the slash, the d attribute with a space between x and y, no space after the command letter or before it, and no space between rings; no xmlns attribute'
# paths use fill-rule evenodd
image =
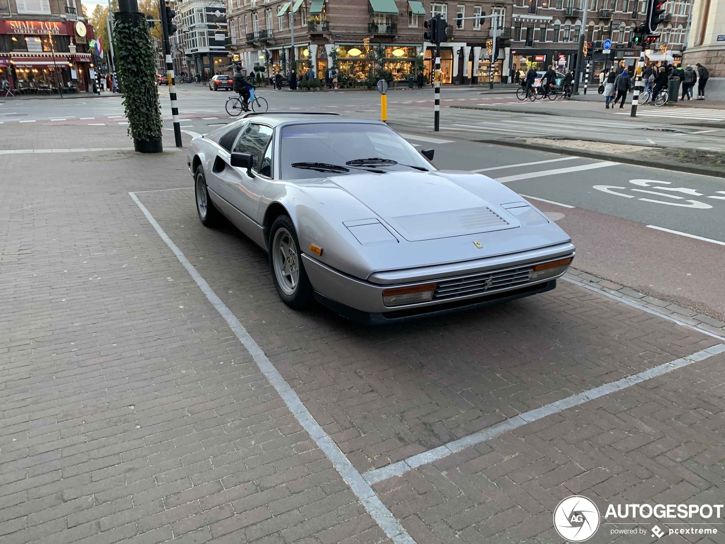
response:
<svg viewBox="0 0 725 544"><path fill-rule="evenodd" d="M188 147L196 210L269 253L280 298L379 324L556 287L571 238L497 181L437 170L386 124L249 114Z"/></svg>

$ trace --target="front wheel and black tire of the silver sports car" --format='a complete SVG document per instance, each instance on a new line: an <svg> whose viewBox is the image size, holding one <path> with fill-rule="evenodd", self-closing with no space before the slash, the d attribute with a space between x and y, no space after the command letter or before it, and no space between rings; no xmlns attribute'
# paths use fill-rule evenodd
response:
<svg viewBox="0 0 725 544"><path fill-rule="evenodd" d="M286 245L281 244L283 239L286 239ZM292 247L293 245L294 247ZM286 247L291 250L291 252L282 255L282 247ZM302 251L299 248L297 231L295 231L289 215L280 215L272 223L272 228L270 228L268 250L272 281L274 281L274 287L277 289L277 294L282 299L282 302L295 310L302 310L302 308L309 306L312 302L314 292L312 284L310 284L310 279L307 278L305 265L302 263ZM290 261L290 258L292 258L293 261ZM297 273L296 282L289 281L284 275L285 271L283 267L280 266L283 262L286 264L289 263L290 265L287 268L287 270L290 271L290 278L294 275L294 272L292 272L294 268L294 271ZM294 284L293 288L290 288L291 284Z"/></svg>

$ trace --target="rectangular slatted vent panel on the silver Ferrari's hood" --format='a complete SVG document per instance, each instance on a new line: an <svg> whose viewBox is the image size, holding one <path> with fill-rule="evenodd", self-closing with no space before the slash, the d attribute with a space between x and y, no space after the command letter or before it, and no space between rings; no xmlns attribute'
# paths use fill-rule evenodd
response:
<svg viewBox="0 0 725 544"><path fill-rule="evenodd" d="M498 230L508 225L489 207L470 207L465 210L402 215L393 218L410 235L409 239L434 239Z"/></svg>

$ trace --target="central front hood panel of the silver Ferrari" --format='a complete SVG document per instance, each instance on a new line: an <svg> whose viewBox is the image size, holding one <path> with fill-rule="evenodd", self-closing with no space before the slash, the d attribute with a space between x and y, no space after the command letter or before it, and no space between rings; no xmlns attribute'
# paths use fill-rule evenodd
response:
<svg viewBox="0 0 725 544"><path fill-rule="evenodd" d="M496 182L476 176L480 184ZM434 172L390 172L336 176L334 183L383 218L410 242L515 228L520 223L500 207L521 200L496 184L491 199L481 186L471 191L451 176ZM502 195L503 190L503 195ZM504 196L505 195L505 196ZM511 195L511 196L510 196Z"/></svg>

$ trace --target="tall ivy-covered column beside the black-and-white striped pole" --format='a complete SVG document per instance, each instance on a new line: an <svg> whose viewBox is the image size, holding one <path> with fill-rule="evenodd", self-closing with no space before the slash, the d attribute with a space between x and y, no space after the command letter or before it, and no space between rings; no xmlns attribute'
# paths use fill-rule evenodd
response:
<svg viewBox="0 0 725 544"><path fill-rule="evenodd" d="M161 105L149 25L136 0L120 1L119 9L114 14L116 70L128 134L136 151L161 153Z"/></svg>

